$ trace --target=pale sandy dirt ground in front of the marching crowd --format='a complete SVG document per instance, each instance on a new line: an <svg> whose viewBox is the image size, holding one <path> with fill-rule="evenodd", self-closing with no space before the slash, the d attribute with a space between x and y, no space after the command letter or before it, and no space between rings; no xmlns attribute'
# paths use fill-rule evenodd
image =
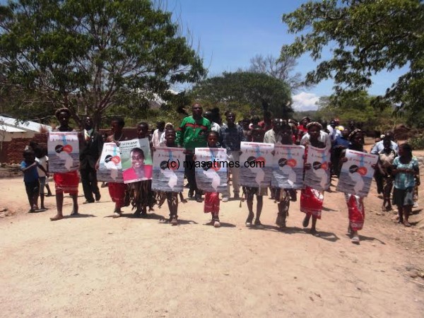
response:
<svg viewBox="0 0 424 318"><path fill-rule="evenodd" d="M412 228L397 225L375 190L353 245L337 192L325 194L315 237L302 229L298 202L279 231L268 197L266 228L256 230L245 227L240 201L221 203L221 228L194 201L179 205L171 226L160 221L165 206L148 219L129 208L111 218L104 188L80 217L51 222L54 197L48 211L25 213L22 179L0 179L0 189L1 317L423 317L423 212ZM65 204L69 214L71 198Z"/></svg>

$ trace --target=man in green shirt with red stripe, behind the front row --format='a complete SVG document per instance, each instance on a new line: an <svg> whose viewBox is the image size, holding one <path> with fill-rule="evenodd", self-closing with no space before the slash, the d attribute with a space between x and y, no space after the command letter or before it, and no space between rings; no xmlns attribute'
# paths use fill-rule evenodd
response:
<svg viewBox="0 0 424 318"><path fill-rule="evenodd" d="M194 192L196 201L201 202L201 192L197 189L196 175L194 173L194 148L207 147L206 133L211 130L211 122L201 114L203 109L201 105L192 106L192 116L182 119L177 129L177 145L186 149L185 173L189 181L189 198L193 197Z"/></svg>

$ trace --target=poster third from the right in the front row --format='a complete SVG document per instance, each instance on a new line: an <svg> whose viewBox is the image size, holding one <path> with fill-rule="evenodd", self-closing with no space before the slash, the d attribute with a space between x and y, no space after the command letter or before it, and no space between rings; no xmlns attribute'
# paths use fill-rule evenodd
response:
<svg viewBox="0 0 424 318"><path fill-rule="evenodd" d="M274 145L271 187L301 189L303 187L304 146Z"/></svg>

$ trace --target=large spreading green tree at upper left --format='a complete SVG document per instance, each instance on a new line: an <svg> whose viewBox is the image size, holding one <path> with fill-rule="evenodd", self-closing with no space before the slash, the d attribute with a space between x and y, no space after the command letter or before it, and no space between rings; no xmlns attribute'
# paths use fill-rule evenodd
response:
<svg viewBox="0 0 424 318"><path fill-rule="evenodd" d="M206 70L150 0L19 0L0 6L0 73L1 86L37 95L49 112L69 107L77 124L90 114L97 125L108 108L143 107Z"/></svg>

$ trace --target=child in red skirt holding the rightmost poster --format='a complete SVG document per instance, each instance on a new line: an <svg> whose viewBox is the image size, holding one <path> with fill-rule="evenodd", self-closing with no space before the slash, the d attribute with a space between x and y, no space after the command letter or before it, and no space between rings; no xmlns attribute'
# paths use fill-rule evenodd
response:
<svg viewBox="0 0 424 318"><path fill-rule="evenodd" d="M364 150L364 139L363 131L360 129L355 129L349 135L349 140L351 144L348 146L349 150L360 151L366 153ZM348 159L346 158L346 149L341 153L340 165L346 163ZM375 169L376 165L372 165L372 168ZM339 169L340 170L340 169ZM358 173L358 172L355 172ZM365 208L363 196L358 196L355 194L345 193L346 204L348 205L348 214L349 214L349 226L348 234L351 235L351 240L355 244L359 244L360 238L358 235L358 230L362 230L364 221L365 221Z"/></svg>

